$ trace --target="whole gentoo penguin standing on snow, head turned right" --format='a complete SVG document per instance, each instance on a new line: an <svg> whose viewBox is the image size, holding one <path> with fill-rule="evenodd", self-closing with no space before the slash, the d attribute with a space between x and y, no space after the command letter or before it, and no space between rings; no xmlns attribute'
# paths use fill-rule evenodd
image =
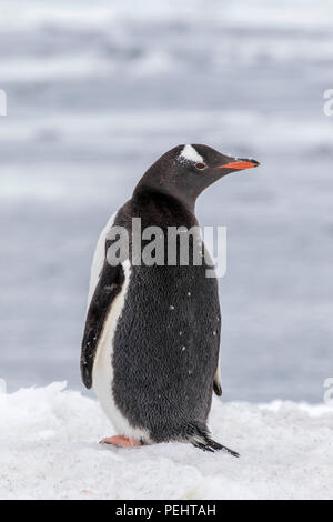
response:
<svg viewBox="0 0 333 522"><path fill-rule="evenodd" d="M110 262L108 252L114 230L132 237L133 218L141 219L142 230L158 227L165 233L172 227L198 227L198 195L225 174L258 164L203 144L178 145L148 169L102 231L81 353L83 383L94 388L118 431L101 442L137 446L180 441L239 456L215 442L206 425L212 392L222 394L221 315L216 279L206 277L203 242L189 234L191 252L201 251L201 265L191 254L188 264L179 255L173 263L140 264L133 261L132 239L128 258L119 263Z"/></svg>

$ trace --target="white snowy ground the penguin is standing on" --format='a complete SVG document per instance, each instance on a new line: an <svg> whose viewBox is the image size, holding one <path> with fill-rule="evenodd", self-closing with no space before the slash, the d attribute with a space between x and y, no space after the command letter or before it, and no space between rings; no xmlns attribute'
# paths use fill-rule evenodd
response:
<svg viewBox="0 0 333 522"><path fill-rule="evenodd" d="M214 438L241 453L181 443L120 450L97 401L54 382L0 393L1 499L330 499L333 409L213 403ZM330 456L331 455L331 456Z"/></svg>

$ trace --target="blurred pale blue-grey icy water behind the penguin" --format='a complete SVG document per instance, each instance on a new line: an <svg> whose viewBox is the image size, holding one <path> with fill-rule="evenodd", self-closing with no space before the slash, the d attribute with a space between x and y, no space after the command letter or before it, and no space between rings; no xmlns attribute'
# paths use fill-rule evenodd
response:
<svg viewBox="0 0 333 522"><path fill-rule="evenodd" d="M2 0L0 377L69 381L94 243L178 143L254 157L199 201L228 227L224 400L320 402L333 377L329 0Z"/></svg>

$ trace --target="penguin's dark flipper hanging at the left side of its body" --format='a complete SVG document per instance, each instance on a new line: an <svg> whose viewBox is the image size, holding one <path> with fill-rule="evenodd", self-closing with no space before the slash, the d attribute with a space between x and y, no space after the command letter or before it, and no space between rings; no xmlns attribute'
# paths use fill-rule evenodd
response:
<svg viewBox="0 0 333 522"><path fill-rule="evenodd" d="M121 291L123 281L122 265L112 267L105 258L88 309L81 345L81 378L88 389L92 387L93 361L104 321L115 295Z"/></svg>

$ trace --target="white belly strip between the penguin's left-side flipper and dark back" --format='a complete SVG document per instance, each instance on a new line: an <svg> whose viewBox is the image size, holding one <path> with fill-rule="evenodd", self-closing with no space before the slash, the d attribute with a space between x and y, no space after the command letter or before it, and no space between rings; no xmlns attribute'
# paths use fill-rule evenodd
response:
<svg viewBox="0 0 333 522"><path fill-rule="evenodd" d="M149 442L149 434L144 429L133 428L129 421L123 416L117 406L113 398L113 339L117 329L118 320L124 307L125 294L131 278L131 264L127 260L122 263L124 271L124 282L121 292L114 298L111 309L107 317L101 339L99 341L97 353L92 369L92 385L98 396L98 400L104 411L105 415L110 419L119 435L127 438L143 439Z"/></svg>

